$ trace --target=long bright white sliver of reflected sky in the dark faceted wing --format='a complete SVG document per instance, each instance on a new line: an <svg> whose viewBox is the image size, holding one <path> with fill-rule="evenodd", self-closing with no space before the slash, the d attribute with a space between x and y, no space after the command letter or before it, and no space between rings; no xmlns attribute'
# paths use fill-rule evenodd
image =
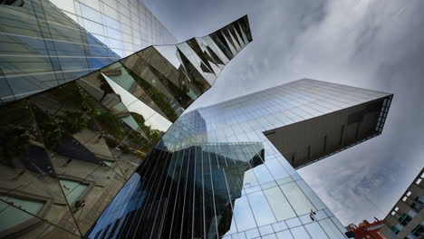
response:
<svg viewBox="0 0 424 239"><path fill-rule="evenodd" d="M113 91L116 94L120 95L120 100L127 107L130 112L140 114L146 121L144 122L147 126L150 126L151 129L159 129L160 131L167 131L171 126L171 122L168 119L165 119L155 110L151 109L148 105L137 99L135 96L130 94L130 92L125 91L119 84L112 81L105 74L101 73L101 75L108 81L111 85Z"/></svg>

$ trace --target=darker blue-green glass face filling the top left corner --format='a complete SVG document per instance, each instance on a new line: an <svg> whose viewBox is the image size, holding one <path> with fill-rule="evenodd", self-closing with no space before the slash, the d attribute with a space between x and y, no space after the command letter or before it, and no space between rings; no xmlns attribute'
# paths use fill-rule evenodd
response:
<svg viewBox="0 0 424 239"><path fill-rule="evenodd" d="M120 59L46 0L0 5L0 29L1 103L75 80Z"/></svg>

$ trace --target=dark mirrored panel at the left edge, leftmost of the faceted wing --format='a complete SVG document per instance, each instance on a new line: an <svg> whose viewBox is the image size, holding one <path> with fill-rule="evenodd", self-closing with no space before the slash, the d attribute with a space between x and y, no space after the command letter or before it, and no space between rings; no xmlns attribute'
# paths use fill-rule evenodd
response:
<svg viewBox="0 0 424 239"><path fill-rule="evenodd" d="M32 109L21 100L8 104L2 112L5 114L0 119L2 198L79 234ZM40 210L40 206L43 209Z"/></svg>

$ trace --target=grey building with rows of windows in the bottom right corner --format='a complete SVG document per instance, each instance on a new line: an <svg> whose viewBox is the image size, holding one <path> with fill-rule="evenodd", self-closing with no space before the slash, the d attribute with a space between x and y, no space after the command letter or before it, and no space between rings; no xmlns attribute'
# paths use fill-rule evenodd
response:
<svg viewBox="0 0 424 239"><path fill-rule="evenodd" d="M381 234L387 239L424 237L424 168L384 218Z"/></svg>

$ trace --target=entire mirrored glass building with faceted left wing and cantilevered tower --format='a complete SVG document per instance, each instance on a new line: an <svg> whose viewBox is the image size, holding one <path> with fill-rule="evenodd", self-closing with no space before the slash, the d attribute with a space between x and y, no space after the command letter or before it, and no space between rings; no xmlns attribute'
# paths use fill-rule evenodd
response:
<svg viewBox="0 0 424 239"><path fill-rule="evenodd" d="M303 79L183 114L247 16L140 49L173 39L138 1L1 3L0 237L344 237L295 169L381 134L391 94Z"/></svg>

